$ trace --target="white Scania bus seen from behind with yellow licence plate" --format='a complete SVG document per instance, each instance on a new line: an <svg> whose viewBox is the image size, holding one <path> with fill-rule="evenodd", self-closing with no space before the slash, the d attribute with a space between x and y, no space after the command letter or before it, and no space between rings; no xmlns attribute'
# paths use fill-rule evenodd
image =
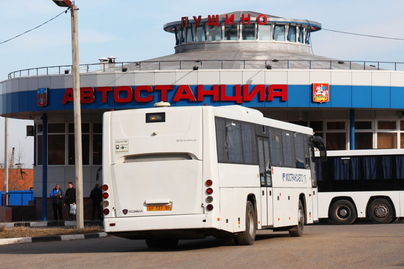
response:
<svg viewBox="0 0 404 269"><path fill-rule="evenodd" d="M318 221L313 130L238 105L104 113L104 227L149 247Z"/></svg>

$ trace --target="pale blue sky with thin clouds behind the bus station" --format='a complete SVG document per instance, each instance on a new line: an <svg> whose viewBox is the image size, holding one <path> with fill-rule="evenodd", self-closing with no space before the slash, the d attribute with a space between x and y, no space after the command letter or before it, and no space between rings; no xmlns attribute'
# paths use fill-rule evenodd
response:
<svg viewBox="0 0 404 269"><path fill-rule="evenodd" d="M117 62L147 60L174 53L174 34L163 25L181 17L248 10L308 19L324 29L404 38L404 1L399 0L76 0L80 64L113 55ZM2 1L0 42L24 33L65 9L52 0ZM313 53L343 61L404 63L403 40L371 38L321 30L311 36ZM72 64L70 12L36 30L0 44L0 81L16 70ZM403 105L404 106L404 105ZM24 148L22 163L34 163L32 121L9 120L9 147ZM4 119L0 118L0 163L4 160Z"/></svg>

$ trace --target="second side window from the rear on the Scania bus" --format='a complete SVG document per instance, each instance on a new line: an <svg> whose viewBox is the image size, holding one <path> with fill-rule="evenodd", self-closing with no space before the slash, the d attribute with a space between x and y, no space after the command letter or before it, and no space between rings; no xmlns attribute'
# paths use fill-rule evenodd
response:
<svg viewBox="0 0 404 269"><path fill-rule="evenodd" d="M229 162L243 162L241 123L226 120L226 140Z"/></svg>

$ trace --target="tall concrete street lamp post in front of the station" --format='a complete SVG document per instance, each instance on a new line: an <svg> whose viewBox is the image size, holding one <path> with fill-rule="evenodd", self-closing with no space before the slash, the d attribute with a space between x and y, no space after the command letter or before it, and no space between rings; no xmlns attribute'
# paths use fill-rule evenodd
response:
<svg viewBox="0 0 404 269"><path fill-rule="evenodd" d="M83 165L81 150L80 70L78 66L77 6L70 0L53 0L58 6L69 7L72 12L72 60L73 60L73 114L74 114L74 157L76 183L76 228L84 230L83 218Z"/></svg>

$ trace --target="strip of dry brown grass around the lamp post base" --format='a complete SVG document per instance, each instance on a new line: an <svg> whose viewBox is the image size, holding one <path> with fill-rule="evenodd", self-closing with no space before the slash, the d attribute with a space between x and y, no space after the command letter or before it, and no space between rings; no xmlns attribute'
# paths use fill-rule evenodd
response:
<svg viewBox="0 0 404 269"><path fill-rule="evenodd" d="M104 229L96 225L84 226L84 232L78 232L75 227L13 227L5 228L4 224L0 224L0 238L15 237L35 237L49 235L82 235L95 234L104 232Z"/></svg>

